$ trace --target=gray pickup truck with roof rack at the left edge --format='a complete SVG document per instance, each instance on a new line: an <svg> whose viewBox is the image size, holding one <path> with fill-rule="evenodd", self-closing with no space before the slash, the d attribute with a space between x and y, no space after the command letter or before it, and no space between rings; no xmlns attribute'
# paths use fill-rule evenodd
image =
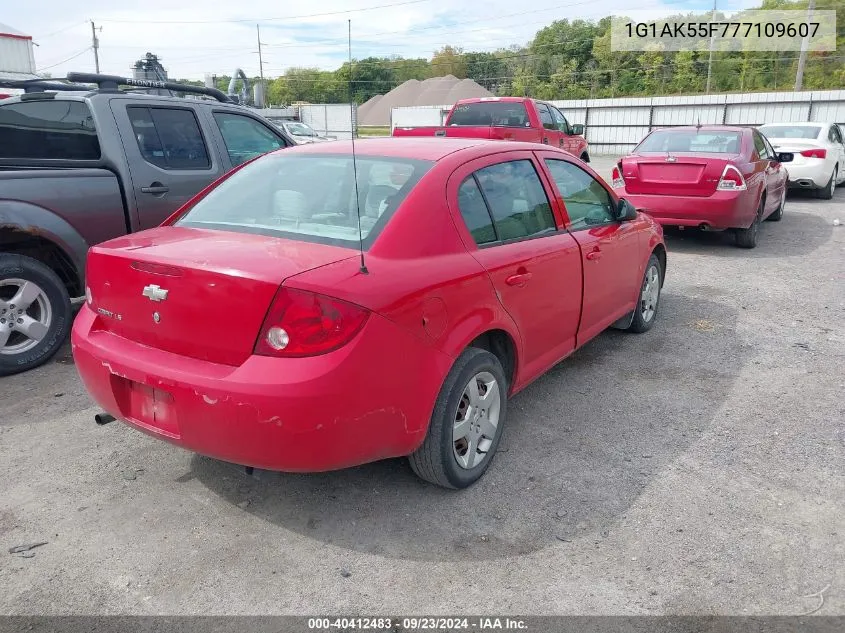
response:
<svg viewBox="0 0 845 633"><path fill-rule="evenodd" d="M61 347L90 246L157 226L233 167L295 145L219 90L67 79L0 83L25 90L0 100L0 376Z"/></svg>

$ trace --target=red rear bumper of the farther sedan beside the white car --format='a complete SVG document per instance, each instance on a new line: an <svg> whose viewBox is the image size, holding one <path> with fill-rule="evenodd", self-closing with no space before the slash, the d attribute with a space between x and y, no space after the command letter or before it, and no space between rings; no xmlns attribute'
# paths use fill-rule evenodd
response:
<svg viewBox="0 0 845 633"><path fill-rule="evenodd" d="M624 187L615 191L664 226L747 228L751 226L757 208L747 190L717 191L706 197L629 194Z"/></svg>

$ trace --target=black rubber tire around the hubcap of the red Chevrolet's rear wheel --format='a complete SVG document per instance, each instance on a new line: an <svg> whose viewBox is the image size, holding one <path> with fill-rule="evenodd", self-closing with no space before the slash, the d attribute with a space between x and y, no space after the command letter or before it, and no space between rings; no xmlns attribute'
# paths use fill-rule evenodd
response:
<svg viewBox="0 0 845 633"><path fill-rule="evenodd" d="M466 469L458 464L455 456L453 428L464 389L470 384L470 380L481 372L492 374L498 383L499 420L487 454L475 467ZM411 468L417 476L438 486L453 489L466 488L478 481L490 467L502 438L507 418L507 393L508 383L499 359L487 350L476 347L466 349L443 381L425 440L408 456Z"/></svg>

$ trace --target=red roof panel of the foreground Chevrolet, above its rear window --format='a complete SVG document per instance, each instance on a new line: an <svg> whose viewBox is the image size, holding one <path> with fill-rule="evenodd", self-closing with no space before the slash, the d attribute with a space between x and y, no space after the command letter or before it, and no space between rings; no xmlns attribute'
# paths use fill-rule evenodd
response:
<svg viewBox="0 0 845 633"><path fill-rule="evenodd" d="M456 152L467 152L483 156L502 151L537 151L555 150L537 143L520 143L512 141L491 141L474 138L420 138L394 137L367 138L355 141L355 153L359 156L384 156L391 158L410 158L417 160L439 161ZM555 150L560 151L562 150ZM352 142L348 140L332 141L311 145L299 145L284 150L304 154L351 154Z"/></svg>

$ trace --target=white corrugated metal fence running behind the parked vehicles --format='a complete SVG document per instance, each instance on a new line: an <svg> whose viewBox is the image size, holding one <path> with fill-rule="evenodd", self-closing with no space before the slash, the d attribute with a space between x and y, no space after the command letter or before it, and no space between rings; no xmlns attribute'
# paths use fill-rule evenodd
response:
<svg viewBox="0 0 845 633"><path fill-rule="evenodd" d="M755 92L685 97L630 97L552 101L570 123L586 129L591 154L624 154L651 130L724 123L757 126L776 121L833 121L845 125L845 90ZM391 129L442 125L451 106L394 108Z"/></svg>

